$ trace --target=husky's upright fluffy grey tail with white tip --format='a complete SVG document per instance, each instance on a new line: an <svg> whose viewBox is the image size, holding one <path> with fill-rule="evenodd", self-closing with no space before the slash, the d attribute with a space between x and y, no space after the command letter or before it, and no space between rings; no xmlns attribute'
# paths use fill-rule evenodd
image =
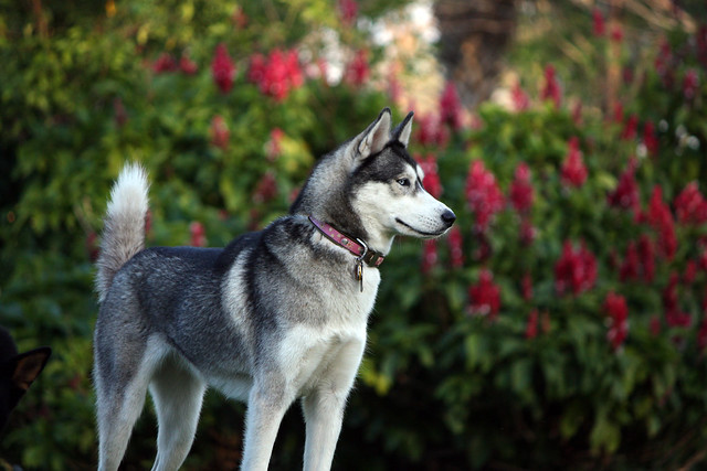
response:
<svg viewBox="0 0 707 471"><path fill-rule="evenodd" d="M145 247L148 188L147 172L137 163L125 165L113 186L96 263L99 302L105 299L115 274Z"/></svg>

